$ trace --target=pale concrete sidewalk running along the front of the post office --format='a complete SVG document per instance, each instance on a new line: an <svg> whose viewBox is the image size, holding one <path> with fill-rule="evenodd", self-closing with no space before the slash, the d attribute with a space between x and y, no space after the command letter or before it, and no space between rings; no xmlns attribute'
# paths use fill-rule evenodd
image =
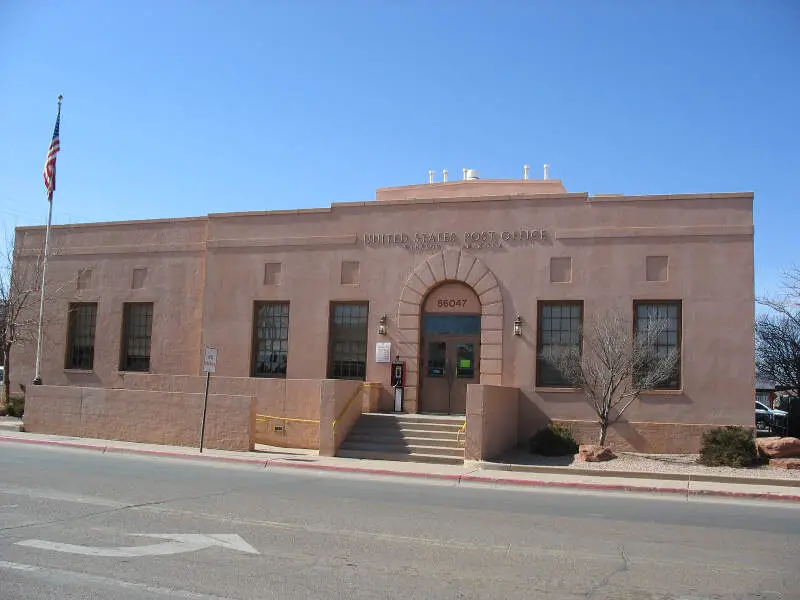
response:
<svg viewBox="0 0 800 600"><path fill-rule="evenodd" d="M257 446L254 452L228 452L177 446L138 444L115 440L74 438L58 435L0 430L4 443L37 444L80 448L98 452L118 452L163 456L184 460L249 464L266 469L309 469L360 473L392 477L415 477L451 481L458 485L509 485L526 487L573 488L583 490L658 493L691 497L717 496L800 502L800 481L753 479L697 475L656 475L652 473L581 471L558 467L531 467L512 464L478 463L453 466L384 460L322 457L316 451L273 446Z"/></svg>

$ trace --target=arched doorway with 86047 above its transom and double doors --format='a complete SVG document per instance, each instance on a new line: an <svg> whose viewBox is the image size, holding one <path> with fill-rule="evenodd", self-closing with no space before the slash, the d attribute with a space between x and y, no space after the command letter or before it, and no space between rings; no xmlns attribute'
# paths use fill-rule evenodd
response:
<svg viewBox="0 0 800 600"><path fill-rule="evenodd" d="M443 283L420 314L419 411L463 415L467 384L480 380L481 301L461 282Z"/></svg>

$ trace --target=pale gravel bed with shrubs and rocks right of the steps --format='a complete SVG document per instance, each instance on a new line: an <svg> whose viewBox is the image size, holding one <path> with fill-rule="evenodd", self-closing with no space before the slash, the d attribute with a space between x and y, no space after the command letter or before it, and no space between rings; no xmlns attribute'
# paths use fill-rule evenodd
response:
<svg viewBox="0 0 800 600"><path fill-rule="evenodd" d="M568 467L592 471L637 471L642 473L677 473L680 475L722 475L725 477L765 477L771 479L795 479L800 482L800 471L776 469L770 466L750 469L732 467L704 467L697 464L697 454L636 454L619 452L617 458L599 463L587 463L580 455L574 457L549 457L522 451L507 454L499 463Z"/></svg>

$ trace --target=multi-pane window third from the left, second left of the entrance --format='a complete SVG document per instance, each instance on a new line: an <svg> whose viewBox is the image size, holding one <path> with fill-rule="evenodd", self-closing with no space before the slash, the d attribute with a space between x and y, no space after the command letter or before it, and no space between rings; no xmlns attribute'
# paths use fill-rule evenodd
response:
<svg viewBox="0 0 800 600"><path fill-rule="evenodd" d="M253 377L286 377L289 303L256 302L253 316Z"/></svg>

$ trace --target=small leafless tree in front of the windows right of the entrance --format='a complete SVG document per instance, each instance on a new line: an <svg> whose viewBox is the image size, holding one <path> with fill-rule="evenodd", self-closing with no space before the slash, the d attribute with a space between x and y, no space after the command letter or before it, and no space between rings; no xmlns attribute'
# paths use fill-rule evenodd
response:
<svg viewBox="0 0 800 600"><path fill-rule="evenodd" d="M597 414L601 446L606 442L609 425L619 419L642 390L653 389L675 375L677 349L659 352L656 345L660 337L667 335L668 325L666 320L649 318L634 335L630 320L619 310L609 310L593 319L582 332L582 343L542 356L569 385L583 390Z"/></svg>

